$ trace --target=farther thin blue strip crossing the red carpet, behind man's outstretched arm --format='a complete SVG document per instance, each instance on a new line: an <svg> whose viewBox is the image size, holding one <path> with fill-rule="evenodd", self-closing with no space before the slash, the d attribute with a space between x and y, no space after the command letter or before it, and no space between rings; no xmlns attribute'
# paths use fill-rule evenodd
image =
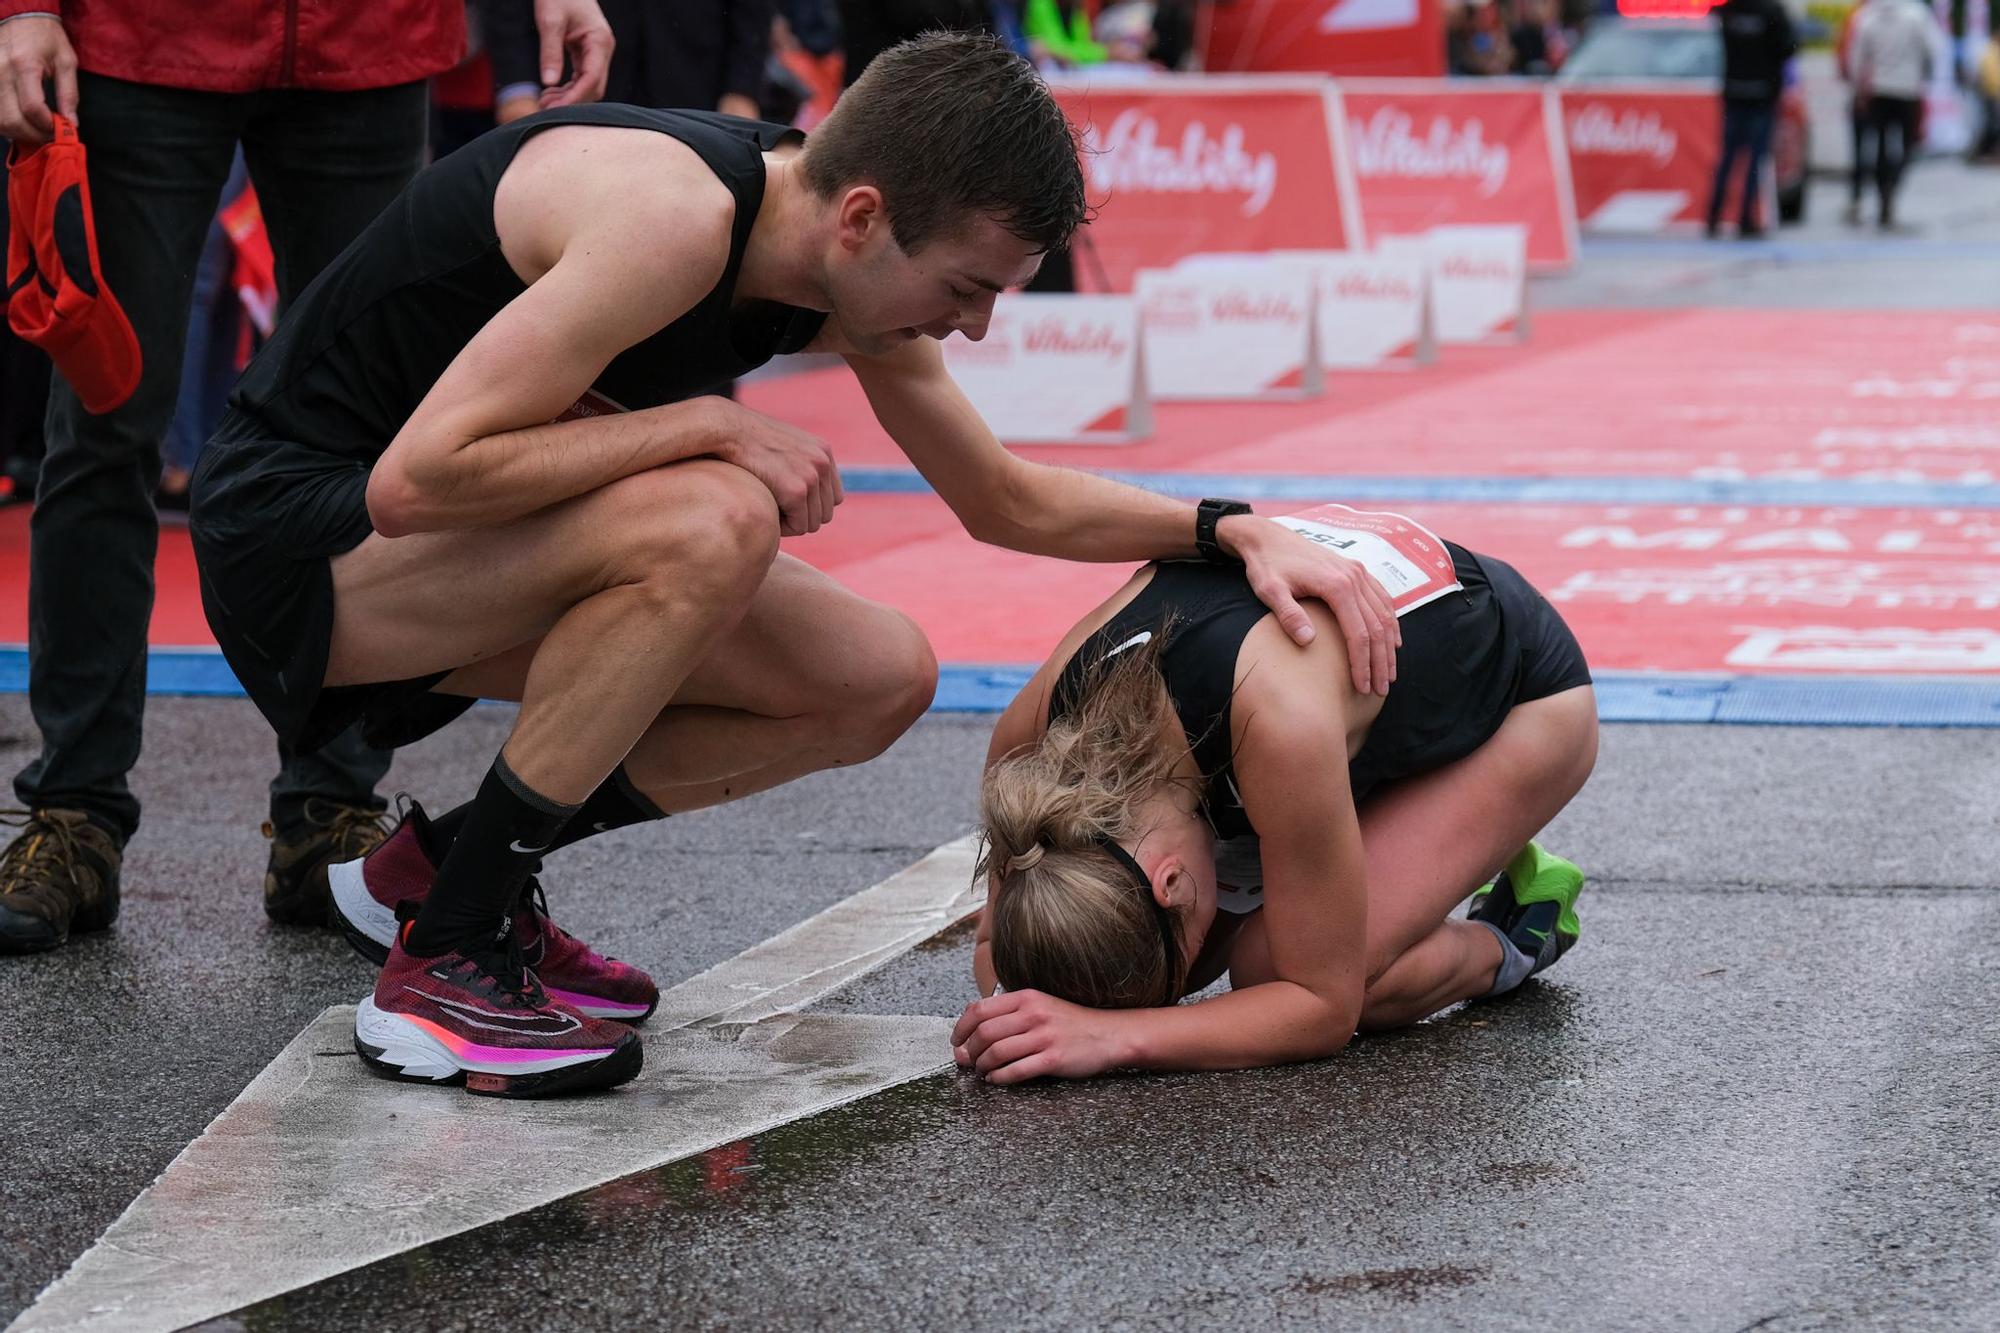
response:
<svg viewBox="0 0 2000 1333"><path fill-rule="evenodd" d="M1130 472L1098 476L1182 498L1430 500L1492 504L1772 504L1786 508L2000 508L1980 482L1724 480L1696 476L1334 476L1326 472ZM912 468L842 468L848 494L930 494Z"/></svg>

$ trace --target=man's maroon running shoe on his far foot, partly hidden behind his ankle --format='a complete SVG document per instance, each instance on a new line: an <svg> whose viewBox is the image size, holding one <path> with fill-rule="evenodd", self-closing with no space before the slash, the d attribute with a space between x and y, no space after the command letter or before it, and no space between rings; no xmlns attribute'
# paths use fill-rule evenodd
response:
<svg viewBox="0 0 2000 1333"><path fill-rule="evenodd" d="M334 921L370 963L388 961L398 929L416 917L438 879L438 867L424 851L428 829L424 809L412 801L386 843L326 873ZM660 1003L660 987L644 971L606 959L550 921L548 899L536 879L528 881L514 913L514 941L550 997L592 1019L644 1023Z"/></svg>

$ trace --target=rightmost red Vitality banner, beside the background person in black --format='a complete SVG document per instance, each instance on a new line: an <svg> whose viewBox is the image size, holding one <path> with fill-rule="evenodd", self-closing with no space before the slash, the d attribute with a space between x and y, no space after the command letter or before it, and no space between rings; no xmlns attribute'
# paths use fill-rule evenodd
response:
<svg viewBox="0 0 2000 1333"><path fill-rule="evenodd" d="M1578 84L1560 98L1586 230L1658 232L1704 220L1722 130L1714 90Z"/></svg>

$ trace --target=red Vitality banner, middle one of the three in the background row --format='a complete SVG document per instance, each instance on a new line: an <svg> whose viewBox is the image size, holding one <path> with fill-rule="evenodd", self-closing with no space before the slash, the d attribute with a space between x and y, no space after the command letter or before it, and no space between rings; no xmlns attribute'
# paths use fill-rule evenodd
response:
<svg viewBox="0 0 2000 1333"><path fill-rule="evenodd" d="M1536 272L1576 260L1576 198L1556 94L1516 80L1340 80L1370 238L1522 224Z"/></svg>

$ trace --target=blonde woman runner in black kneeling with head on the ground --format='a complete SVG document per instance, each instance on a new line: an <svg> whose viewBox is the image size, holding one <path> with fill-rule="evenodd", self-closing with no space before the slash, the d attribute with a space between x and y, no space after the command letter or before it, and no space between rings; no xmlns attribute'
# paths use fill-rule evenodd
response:
<svg viewBox="0 0 2000 1333"><path fill-rule="evenodd" d="M1382 578L1402 628L1388 699L1354 691L1322 606L1300 648L1232 566L1148 564L1076 624L988 751L986 999L952 1035L962 1067L1018 1083L1318 1059L1576 943L1584 877L1530 841L1598 749L1562 616L1398 514L1280 522ZM1224 971L1228 993L1180 1005Z"/></svg>

